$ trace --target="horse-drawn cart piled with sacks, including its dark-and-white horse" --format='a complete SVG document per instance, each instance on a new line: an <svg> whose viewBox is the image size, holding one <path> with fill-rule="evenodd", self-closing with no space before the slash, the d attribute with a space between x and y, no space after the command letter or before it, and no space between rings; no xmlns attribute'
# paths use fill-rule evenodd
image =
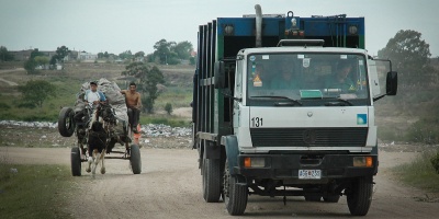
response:
<svg viewBox="0 0 439 219"><path fill-rule="evenodd" d="M100 161L101 173L105 173L104 159L130 160L134 174L142 172L140 150L132 143L133 134L126 114L125 99L116 83L106 79L98 81L98 90L106 96L105 104L88 105L83 102L89 83L83 83L74 107L63 107L58 116L58 130L63 137L78 138L77 147L71 148L71 174L81 175L81 163L88 162L87 172L92 172ZM123 146L123 150L115 145ZM110 155L110 154L115 155Z"/></svg>

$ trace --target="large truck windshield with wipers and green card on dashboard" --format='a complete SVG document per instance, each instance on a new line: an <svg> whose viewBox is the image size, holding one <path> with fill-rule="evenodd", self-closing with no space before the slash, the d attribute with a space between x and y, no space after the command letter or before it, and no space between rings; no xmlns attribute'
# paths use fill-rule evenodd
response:
<svg viewBox="0 0 439 219"><path fill-rule="evenodd" d="M362 54L248 56L249 105L365 105L370 104L368 90L365 59ZM302 104L279 104L290 100Z"/></svg>

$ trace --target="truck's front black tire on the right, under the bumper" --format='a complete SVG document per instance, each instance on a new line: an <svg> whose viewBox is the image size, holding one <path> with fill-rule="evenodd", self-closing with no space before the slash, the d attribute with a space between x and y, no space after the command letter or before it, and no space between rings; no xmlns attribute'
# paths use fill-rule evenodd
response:
<svg viewBox="0 0 439 219"><path fill-rule="evenodd" d="M352 216L368 215L372 203L373 185L371 180L360 177L351 184L347 194L349 211Z"/></svg>

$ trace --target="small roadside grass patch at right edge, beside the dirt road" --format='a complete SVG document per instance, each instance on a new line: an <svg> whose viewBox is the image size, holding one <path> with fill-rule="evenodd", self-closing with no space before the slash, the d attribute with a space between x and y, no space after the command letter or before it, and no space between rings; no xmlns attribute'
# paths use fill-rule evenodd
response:
<svg viewBox="0 0 439 219"><path fill-rule="evenodd" d="M439 174L436 173L430 159L437 150L421 152L410 163L394 168L403 183L431 193L439 193Z"/></svg>

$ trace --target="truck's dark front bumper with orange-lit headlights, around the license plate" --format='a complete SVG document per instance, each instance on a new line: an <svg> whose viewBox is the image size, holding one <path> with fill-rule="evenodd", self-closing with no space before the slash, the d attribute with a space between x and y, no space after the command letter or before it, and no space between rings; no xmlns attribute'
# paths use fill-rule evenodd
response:
<svg viewBox="0 0 439 219"><path fill-rule="evenodd" d="M354 160L361 157L369 157L369 162L372 163L369 163L368 166L354 164ZM250 163L251 160L258 160L258 165L249 165L249 160ZM263 161L263 164L260 161ZM319 170L320 180L371 176L378 172L378 155L239 154L238 166L233 168L233 172L236 174L260 180L299 180L300 170Z"/></svg>

